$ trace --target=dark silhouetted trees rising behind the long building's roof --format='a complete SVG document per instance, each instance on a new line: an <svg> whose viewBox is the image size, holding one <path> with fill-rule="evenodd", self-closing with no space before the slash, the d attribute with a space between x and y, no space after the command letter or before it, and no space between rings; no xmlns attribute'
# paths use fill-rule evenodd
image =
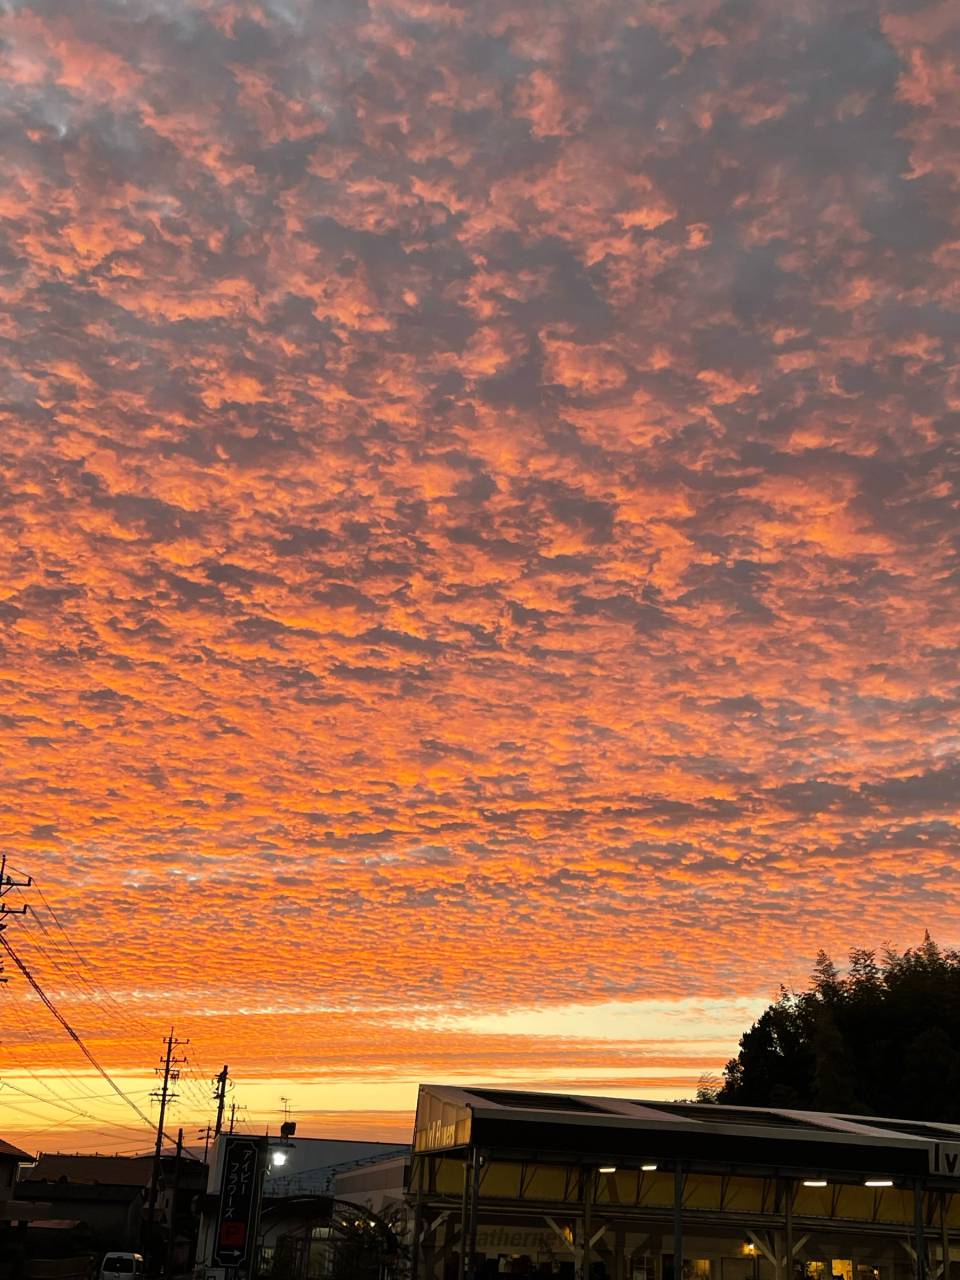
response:
<svg viewBox="0 0 960 1280"><path fill-rule="evenodd" d="M960 952L817 956L741 1037L717 1102L960 1123Z"/></svg>

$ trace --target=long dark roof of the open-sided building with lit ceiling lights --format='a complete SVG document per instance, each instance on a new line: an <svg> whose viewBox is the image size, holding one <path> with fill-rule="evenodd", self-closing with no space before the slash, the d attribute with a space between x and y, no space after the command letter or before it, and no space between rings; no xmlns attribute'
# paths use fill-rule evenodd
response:
<svg viewBox="0 0 960 1280"><path fill-rule="evenodd" d="M480 1146L554 1158L960 1174L960 1125L786 1107L728 1107L421 1084L416 1152Z"/></svg>

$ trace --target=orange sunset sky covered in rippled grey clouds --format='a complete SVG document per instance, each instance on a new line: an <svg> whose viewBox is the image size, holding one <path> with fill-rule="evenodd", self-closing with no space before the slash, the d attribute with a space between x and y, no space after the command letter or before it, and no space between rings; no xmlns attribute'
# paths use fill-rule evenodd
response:
<svg viewBox="0 0 960 1280"><path fill-rule="evenodd" d="M0 0L6 938L145 1110L689 1096L960 938L955 17ZM3 1135L148 1143L6 972Z"/></svg>

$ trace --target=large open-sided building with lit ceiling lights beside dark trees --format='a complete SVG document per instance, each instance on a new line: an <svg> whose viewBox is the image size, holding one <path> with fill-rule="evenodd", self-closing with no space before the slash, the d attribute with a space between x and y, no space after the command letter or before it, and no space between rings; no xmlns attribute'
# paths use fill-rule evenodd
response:
<svg viewBox="0 0 960 1280"><path fill-rule="evenodd" d="M411 1280L960 1276L943 1124L421 1085L408 1199Z"/></svg>

